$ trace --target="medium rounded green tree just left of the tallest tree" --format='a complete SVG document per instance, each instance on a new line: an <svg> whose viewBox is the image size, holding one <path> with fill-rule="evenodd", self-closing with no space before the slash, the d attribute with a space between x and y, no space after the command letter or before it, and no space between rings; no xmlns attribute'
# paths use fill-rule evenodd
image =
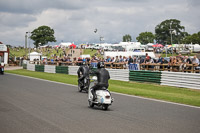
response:
<svg viewBox="0 0 200 133"><path fill-rule="evenodd" d="M153 43L155 36L152 32L142 32L136 37L137 41L142 44Z"/></svg>

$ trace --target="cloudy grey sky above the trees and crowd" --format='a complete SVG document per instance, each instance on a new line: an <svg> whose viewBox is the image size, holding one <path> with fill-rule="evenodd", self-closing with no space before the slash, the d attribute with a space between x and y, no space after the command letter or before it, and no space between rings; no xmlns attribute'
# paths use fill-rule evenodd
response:
<svg viewBox="0 0 200 133"><path fill-rule="evenodd" d="M0 42L24 46L25 33L43 25L55 31L52 45L99 43L100 36L119 43L126 34L136 41L167 19L193 34L200 31L199 9L199 0L0 0Z"/></svg>

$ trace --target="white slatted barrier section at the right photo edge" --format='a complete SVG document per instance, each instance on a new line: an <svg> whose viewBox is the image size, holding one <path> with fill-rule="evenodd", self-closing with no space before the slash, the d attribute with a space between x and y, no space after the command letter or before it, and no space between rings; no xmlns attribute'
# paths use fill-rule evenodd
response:
<svg viewBox="0 0 200 133"><path fill-rule="evenodd" d="M199 73L161 72L161 85L200 89Z"/></svg>

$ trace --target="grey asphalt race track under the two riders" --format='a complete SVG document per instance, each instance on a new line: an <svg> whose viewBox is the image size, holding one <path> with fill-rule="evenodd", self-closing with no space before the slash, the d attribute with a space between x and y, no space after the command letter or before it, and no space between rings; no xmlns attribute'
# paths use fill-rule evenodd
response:
<svg viewBox="0 0 200 133"><path fill-rule="evenodd" d="M89 108L77 87L0 75L0 133L200 133L200 108L112 94Z"/></svg>

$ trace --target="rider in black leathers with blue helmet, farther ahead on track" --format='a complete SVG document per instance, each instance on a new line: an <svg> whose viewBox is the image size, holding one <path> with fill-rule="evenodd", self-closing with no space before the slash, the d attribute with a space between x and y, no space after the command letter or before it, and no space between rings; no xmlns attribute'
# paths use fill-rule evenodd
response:
<svg viewBox="0 0 200 133"><path fill-rule="evenodd" d="M78 83L81 84L81 87L84 87L84 78L89 77L89 67L86 65L86 62L83 61L82 65L79 67L78 71Z"/></svg>

